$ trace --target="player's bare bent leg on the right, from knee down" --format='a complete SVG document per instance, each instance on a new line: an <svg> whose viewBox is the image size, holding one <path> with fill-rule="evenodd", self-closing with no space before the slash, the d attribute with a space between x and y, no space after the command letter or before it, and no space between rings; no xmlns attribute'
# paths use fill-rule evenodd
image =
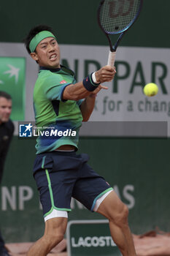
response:
<svg viewBox="0 0 170 256"><path fill-rule="evenodd" d="M123 256L136 256L134 241L128 227L128 208L114 191L103 200L97 212L109 219L110 233Z"/></svg>

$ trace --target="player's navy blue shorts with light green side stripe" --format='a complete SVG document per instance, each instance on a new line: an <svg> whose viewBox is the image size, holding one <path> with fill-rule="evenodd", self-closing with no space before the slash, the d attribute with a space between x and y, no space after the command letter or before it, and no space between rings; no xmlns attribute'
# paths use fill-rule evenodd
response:
<svg viewBox="0 0 170 256"><path fill-rule="evenodd" d="M36 156L34 178L45 216L53 209L71 211L74 197L90 211L112 187L88 164L87 154L52 151Z"/></svg>

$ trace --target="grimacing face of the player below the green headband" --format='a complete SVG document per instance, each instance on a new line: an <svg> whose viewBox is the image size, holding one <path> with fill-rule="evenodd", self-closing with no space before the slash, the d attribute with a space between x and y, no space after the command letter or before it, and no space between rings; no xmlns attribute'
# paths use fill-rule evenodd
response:
<svg viewBox="0 0 170 256"><path fill-rule="evenodd" d="M31 53L31 57L38 61L39 66L60 68L60 49L53 37L47 37L39 42L36 53Z"/></svg>

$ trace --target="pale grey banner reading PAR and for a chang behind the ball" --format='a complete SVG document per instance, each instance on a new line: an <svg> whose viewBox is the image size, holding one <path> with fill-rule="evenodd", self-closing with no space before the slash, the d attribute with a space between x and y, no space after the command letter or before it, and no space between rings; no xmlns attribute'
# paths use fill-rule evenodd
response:
<svg viewBox="0 0 170 256"><path fill-rule="evenodd" d="M63 45L61 53L63 64L76 71L77 80L107 64L105 46ZM169 122L169 53L163 48L118 48L115 79L98 93L90 120ZM158 94L146 97L143 88L151 82L158 85Z"/></svg>

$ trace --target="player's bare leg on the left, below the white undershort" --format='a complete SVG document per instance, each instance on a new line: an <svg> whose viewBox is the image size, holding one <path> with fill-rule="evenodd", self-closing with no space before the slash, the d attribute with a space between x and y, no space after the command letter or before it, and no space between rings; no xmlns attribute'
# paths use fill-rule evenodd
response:
<svg viewBox="0 0 170 256"><path fill-rule="evenodd" d="M27 256L46 256L63 240L67 218L57 217L45 222L45 234L28 250Z"/></svg>

